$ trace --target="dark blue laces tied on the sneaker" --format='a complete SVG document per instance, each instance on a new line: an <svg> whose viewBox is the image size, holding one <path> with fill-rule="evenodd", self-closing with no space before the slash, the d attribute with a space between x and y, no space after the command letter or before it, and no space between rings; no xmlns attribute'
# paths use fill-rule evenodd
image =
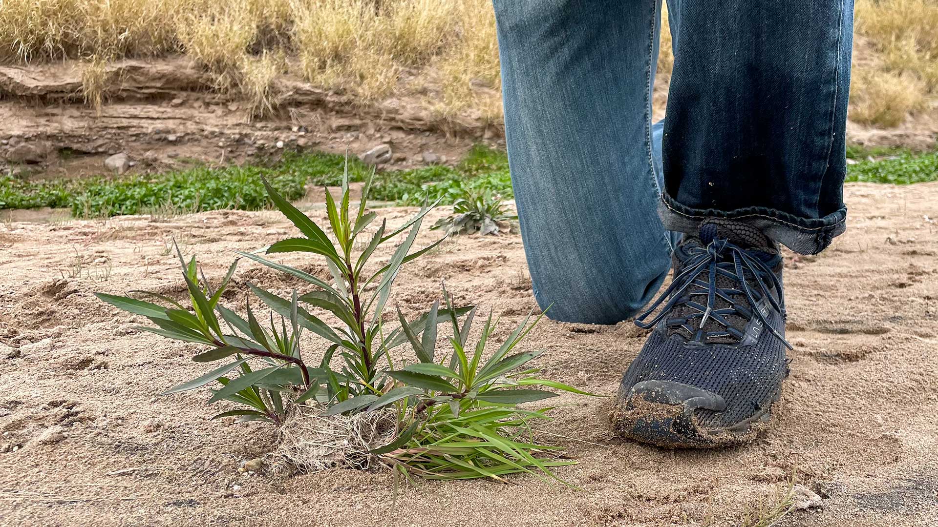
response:
<svg viewBox="0 0 938 527"><path fill-rule="evenodd" d="M752 320L752 317L757 317L788 349L793 349L792 345L779 334L779 331L768 323L762 310L757 308L758 302L762 298L767 298L772 309L779 312L782 317L785 316L785 298L781 283L768 265L726 238L714 238L706 247L691 247L688 253L690 258L684 271L674 277L668 289L635 319L636 325L644 329L650 328L673 313L678 306L687 306L690 312L686 316L668 319L665 324L669 327L683 327L690 335L694 335L697 341L727 337L743 339L743 333L726 319L729 315L739 315L747 321ZM731 279L734 285L739 287L718 287L718 277ZM753 286L749 285L749 279L755 282ZM778 299L771 294L770 289L778 292ZM705 305L694 299L704 294L706 295ZM670 300L658 312L658 315L651 320L646 320L668 298ZM717 309L718 298L729 303L729 307ZM749 302L749 307L738 302L737 298L745 298ZM700 323L693 328L691 323L698 318ZM719 324L718 330L703 330L703 325L710 320Z"/></svg>

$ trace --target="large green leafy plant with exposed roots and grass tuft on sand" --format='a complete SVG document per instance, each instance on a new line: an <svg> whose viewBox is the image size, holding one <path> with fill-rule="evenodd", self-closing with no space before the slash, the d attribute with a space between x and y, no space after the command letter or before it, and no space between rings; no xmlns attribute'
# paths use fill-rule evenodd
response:
<svg viewBox="0 0 938 527"><path fill-rule="evenodd" d="M143 331L204 344L193 359L222 366L165 393L214 386L209 403L238 405L215 417L274 424L280 439L275 458L291 470L385 466L408 477L502 480L512 473L552 476L551 467L570 463L556 447L532 439L532 423L546 420L547 409L517 406L556 395L543 387L584 393L537 377L537 369L527 365L538 353L515 351L537 319L529 314L496 348L489 344L498 321L490 314L480 336L470 342L477 310L454 308L444 290L444 307L434 303L414 320L406 320L399 309L396 317L388 317L390 323L384 322L401 265L442 240L411 250L431 206L398 229L382 221L371 236L362 236L376 218L366 211L370 181L352 214L347 179L346 174L340 203L325 193L332 237L265 181L273 202L303 234L269 246L266 254L309 252L331 271L330 280L320 279L254 252L237 252L309 283L307 291L293 290L288 297L249 284L254 306L263 303L269 317L260 316L250 300L244 316L220 304L237 260L213 284L194 257L186 262L178 250L189 291L185 303L144 292L136 292L138 298L98 297L149 319L153 325L139 326ZM375 249L396 237L403 241L389 262L373 270L378 266L371 265ZM313 311L330 314L325 318L331 324ZM310 346L306 332L319 339L315 362L304 349ZM444 335L445 352L437 342ZM397 349L403 344L413 354ZM403 358L408 355L409 361Z"/></svg>

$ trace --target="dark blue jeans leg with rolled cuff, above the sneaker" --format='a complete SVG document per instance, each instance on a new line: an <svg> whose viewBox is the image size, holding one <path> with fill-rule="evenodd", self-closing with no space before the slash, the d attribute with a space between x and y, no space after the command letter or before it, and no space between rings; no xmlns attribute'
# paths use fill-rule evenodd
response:
<svg viewBox="0 0 938 527"><path fill-rule="evenodd" d="M734 218L802 254L844 230L853 0L674 0L665 225Z"/></svg>

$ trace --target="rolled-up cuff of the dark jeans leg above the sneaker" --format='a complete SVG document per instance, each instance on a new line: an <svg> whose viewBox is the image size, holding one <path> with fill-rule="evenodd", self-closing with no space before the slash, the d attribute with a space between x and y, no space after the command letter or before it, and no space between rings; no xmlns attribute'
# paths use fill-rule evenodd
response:
<svg viewBox="0 0 938 527"><path fill-rule="evenodd" d="M824 218L798 218L787 212L761 206L732 211L690 208L662 194L661 203L658 203L658 216L665 229L694 235L699 232L700 224L706 218L727 218L748 223L798 254L817 254L829 246L835 236L847 230L845 206Z"/></svg>

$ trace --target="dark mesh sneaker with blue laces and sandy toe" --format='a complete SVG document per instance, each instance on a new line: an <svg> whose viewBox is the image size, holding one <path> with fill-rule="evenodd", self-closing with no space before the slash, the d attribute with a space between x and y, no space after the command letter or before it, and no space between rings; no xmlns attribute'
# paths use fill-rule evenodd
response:
<svg viewBox="0 0 938 527"><path fill-rule="evenodd" d="M613 427L661 446L746 443L788 376L778 245L708 219L673 261L671 286L635 321L654 330L622 378Z"/></svg>

